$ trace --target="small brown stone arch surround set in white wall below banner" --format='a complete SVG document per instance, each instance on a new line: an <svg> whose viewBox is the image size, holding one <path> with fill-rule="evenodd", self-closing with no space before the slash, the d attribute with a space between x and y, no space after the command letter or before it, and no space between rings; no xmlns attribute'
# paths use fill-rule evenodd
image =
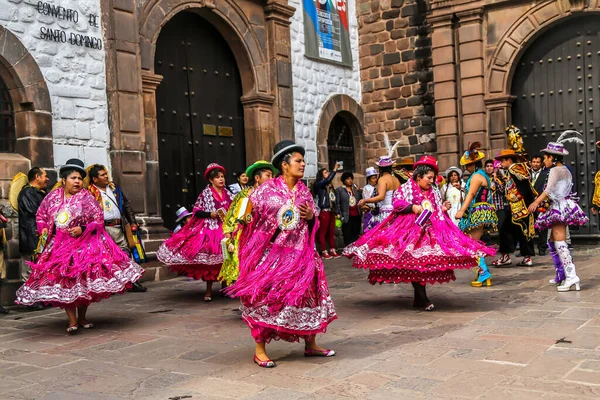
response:
<svg viewBox="0 0 600 400"><path fill-rule="evenodd" d="M317 167L329 168L329 152L327 137L333 119L343 118L352 131L354 138L355 172L362 175L367 168L367 155L365 151L364 113L361 106L350 96L345 94L333 95L327 100L317 127Z"/></svg>

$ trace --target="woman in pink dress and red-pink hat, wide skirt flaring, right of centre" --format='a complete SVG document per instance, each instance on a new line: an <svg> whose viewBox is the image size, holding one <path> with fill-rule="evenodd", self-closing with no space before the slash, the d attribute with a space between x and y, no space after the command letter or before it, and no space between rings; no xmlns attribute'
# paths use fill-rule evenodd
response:
<svg viewBox="0 0 600 400"><path fill-rule="evenodd" d="M415 163L412 179L394 194L394 211L373 230L346 247L355 268L369 269L369 282L413 285L415 307L433 310L425 285L455 280L454 270L474 268L477 257L493 249L461 232L450 220L449 202L442 203L434 184L437 160L423 156Z"/></svg>

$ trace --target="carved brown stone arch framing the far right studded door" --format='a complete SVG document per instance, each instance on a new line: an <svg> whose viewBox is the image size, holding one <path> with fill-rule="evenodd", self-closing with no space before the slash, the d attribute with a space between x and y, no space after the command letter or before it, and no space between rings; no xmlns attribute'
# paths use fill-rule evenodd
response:
<svg viewBox="0 0 600 400"><path fill-rule="evenodd" d="M511 86L521 56L555 24L577 15L600 12L600 0L542 2L524 13L498 42L486 67L488 132L492 152L506 145L504 129L512 121Z"/></svg>

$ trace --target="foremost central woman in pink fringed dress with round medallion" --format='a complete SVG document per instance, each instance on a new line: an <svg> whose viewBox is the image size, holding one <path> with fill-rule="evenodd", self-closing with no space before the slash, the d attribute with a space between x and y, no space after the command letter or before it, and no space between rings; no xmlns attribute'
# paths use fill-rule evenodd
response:
<svg viewBox="0 0 600 400"><path fill-rule="evenodd" d="M315 336L337 318L315 250L315 204L300 181L304 148L284 140L271 162L282 175L250 195L252 222L240 238L240 276L227 289L241 298L242 317L256 342L254 362L264 368L275 366L265 351L271 340L304 339L306 357L335 355L319 347Z"/></svg>

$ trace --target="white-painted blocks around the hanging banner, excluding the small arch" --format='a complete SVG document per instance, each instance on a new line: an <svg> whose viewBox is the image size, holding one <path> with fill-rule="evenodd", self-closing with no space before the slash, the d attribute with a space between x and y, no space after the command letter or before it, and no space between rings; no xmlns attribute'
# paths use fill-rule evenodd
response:
<svg viewBox="0 0 600 400"><path fill-rule="evenodd" d="M306 148L306 178L317 175L317 126L327 100L346 94L361 102L358 64L358 22L355 0L348 0L348 23L352 68L314 61L304 56L304 16L301 0L289 0L296 8L292 17L292 79L294 85L294 130L296 142Z"/></svg>

